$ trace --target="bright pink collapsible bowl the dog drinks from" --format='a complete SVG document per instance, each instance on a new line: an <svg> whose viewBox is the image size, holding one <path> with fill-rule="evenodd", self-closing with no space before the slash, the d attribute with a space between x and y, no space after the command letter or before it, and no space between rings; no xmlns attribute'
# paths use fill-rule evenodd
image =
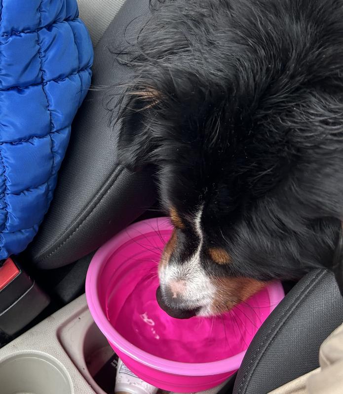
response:
<svg viewBox="0 0 343 394"><path fill-rule="evenodd" d="M155 292L157 263L172 229L168 219L157 218L115 235L90 263L86 297L95 323L128 368L161 389L191 393L219 385L239 368L284 292L274 282L220 317L171 318Z"/></svg>

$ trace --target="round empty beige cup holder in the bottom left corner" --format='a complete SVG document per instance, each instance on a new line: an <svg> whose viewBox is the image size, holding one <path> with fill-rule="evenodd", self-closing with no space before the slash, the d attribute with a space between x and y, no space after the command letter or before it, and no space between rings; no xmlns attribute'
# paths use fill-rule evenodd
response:
<svg viewBox="0 0 343 394"><path fill-rule="evenodd" d="M1 394L72 394L69 376L54 359L38 354L0 363Z"/></svg>

